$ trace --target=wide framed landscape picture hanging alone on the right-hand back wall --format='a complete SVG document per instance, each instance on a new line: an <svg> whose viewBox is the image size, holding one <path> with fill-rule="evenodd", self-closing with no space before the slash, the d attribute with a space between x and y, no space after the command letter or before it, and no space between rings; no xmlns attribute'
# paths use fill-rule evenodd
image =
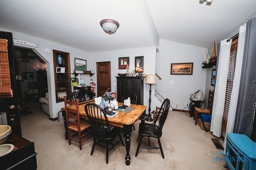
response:
<svg viewBox="0 0 256 170"><path fill-rule="evenodd" d="M193 62L171 63L171 74L192 75L193 74Z"/></svg>

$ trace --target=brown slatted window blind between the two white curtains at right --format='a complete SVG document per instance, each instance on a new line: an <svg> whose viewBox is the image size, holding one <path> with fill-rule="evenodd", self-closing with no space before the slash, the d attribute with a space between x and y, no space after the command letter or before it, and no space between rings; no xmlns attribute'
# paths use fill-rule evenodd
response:
<svg viewBox="0 0 256 170"><path fill-rule="evenodd" d="M221 125L221 129L224 130L225 132L227 128L227 117L228 117L228 111L230 107L230 99L231 99L233 79L234 79L235 67L236 67L237 46L238 46L238 39L233 40L230 48L230 59L229 59L229 66L228 66L228 73L227 73L227 86L226 86L224 111L223 111L222 125Z"/></svg>

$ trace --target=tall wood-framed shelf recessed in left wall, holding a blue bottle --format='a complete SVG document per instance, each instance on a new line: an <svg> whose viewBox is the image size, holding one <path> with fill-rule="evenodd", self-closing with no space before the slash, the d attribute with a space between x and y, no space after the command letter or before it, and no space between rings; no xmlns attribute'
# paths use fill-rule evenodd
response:
<svg viewBox="0 0 256 170"><path fill-rule="evenodd" d="M52 51L56 103L64 102L63 96L69 98L71 94L70 54L57 50Z"/></svg>

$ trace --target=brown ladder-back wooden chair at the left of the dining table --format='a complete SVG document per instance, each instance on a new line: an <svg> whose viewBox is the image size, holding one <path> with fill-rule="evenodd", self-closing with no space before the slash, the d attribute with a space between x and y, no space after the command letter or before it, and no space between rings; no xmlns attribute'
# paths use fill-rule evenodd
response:
<svg viewBox="0 0 256 170"><path fill-rule="evenodd" d="M67 120L67 134L68 142L71 144L71 140L79 143L80 150L82 149L82 142L90 138L90 123L83 119L80 120L79 117L79 100L76 99L76 102L67 101L66 97L64 98L65 111L66 111L66 120ZM67 108L67 105L74 105L74 108ZM73 119L73 121L72 121ZM83 134L81 132L84 132ZM78 138L76 137L78 134ZM85 137L83 140L82 138Z"/></svg>

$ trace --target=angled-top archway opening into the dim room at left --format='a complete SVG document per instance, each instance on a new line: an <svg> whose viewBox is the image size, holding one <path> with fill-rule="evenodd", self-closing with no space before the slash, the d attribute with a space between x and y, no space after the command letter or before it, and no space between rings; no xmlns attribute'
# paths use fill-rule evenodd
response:
<svg viewBox="0 0 256 170"><path fill-rule="evenodd" d="M16 80L19 105L24 110L20 114L33 113L33 108L41 108L39 98L48 92L46 62L32 48L13 46L13 55L15 75L20 77Z"/></svg>

